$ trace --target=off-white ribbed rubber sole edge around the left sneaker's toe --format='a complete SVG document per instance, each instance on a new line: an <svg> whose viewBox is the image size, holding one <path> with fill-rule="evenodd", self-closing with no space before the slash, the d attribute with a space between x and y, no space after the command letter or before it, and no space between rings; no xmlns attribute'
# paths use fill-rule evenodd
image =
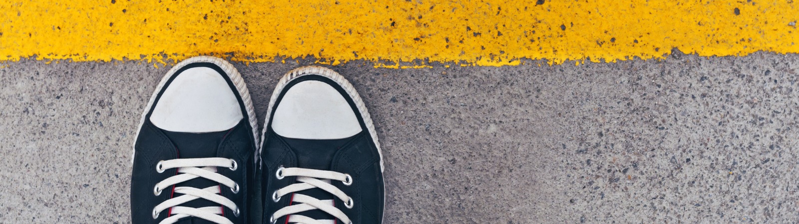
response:
<svg viewBox="0 0 799 224"><path fill-rule="evenodd" d="M130 156L130 163L133 163L133 159L136 156L136 141L139 138L139 132L141 132L141 126L145 124L145 117L147 116L147 112L149 112L150 108L153 107L155 99L158 96L158 92L161 92L161 89L164 88L166 82L169 81L169 79L175 75L177 70L183 68L185 65L198 62L213 63L214 65L219 66L219 68L221 68L222 71L225 71L225 74L227 74L230 81L233 82L234 86L236 86L236 91L239 93L241 101L244 102L244 108L247 110L247 116L249 118L250 127L252 127L252 140L255 141L253 142L253 144L256 144L258 142L258 120L255 117L255 108L252 107L252 100L250 99L249 90L247 89L247 84L244 84L244 79L241 78L241 74L236 70L236 67L233 67L233 65L231 65L228 61L225 61L224 59L221 59L219 57L197 56L197 57L191 57L189 59L181 61L180 63L177 63L177 65L173 66L172 69L169 69L169 72L166 73L166 75L163 78L161 78L161 82L158 83L157 87L155 88L155 91L153 92L153 96L150 97L149 103L147 103L147 106L145 107L145 111L141 113L141 121L139 122L139 128L136 131L136 137L133 138L133 155ZM253 161L257 161L257 159L259 159L257 157L258 155L260 155L260 145L256 144L256 153L255 155L253 155L256 157L255 160Z"/></svg>

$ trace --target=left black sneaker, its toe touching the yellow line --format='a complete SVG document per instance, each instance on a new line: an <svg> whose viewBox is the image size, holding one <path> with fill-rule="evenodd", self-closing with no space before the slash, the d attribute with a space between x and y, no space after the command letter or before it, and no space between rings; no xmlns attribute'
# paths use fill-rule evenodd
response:
<svg viewBox="0 0 799 224"><path fill-rule="evenodd" d="M247 85L217 57L181 61L161 79L133 151L133 223L248 223L256 129ZM260 214L259 214L260 215Z"/></svg>

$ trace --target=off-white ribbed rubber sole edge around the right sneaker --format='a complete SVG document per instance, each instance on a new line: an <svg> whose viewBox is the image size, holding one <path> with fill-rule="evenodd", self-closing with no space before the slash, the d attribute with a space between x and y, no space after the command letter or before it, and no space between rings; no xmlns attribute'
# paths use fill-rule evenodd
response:
<svg viewBox="0 0 799 224"><path fill-rule="evenodd" d="M260 136L266 136L266 129L268 128L267 125L269 124L269 119L272 117L272 107L275 106L275 101L277 100L277 97L280 96L280 92L283 92L283 88L286 87L286 84L288 84L292 80L296 79L297 77L303 77L303 76L307 76L307 75L320 75L320 76L323 76L323 77L327 77L328 79L330 79L332 81L335 81L336 84L339 84L339 86L341 86L341 88L344 88L344 92L347 92L347 94L350 96L350 98L352 98L352 102L355 102L355 105L358 108L358 112L360 112L361 119L363 119L364 120L364 124L366 124L366 128L369 131L369 135L372 136L372 141L375 142L375 147L377 147L377 154L380 155L380 173L383 173L383 171L384 171L383 151L380 149L380 142L377 140L377 132L375 131L375 125L372 124L372 116L369 115L369 112L366 109L366 104L364 104L364 100L360 99L360 95L358 95L358 92L356 92L355 88L352 87L352 84L350 84L349 81L347 81L346 78L341 76L339 73L336 73L336 71L333 71L332 69L324 68L324 67L321 67L321 66L305 66L305 67L300 67L300 68L297 68L297 69L293 69L293 70L289 71L288 73L286 73L285 75L283 75L283 77L280 78L280 81L277 82L277 87L275 88L275 91L272 92L272 97L269 99L269 108L267 108L267 111L266 111L266 119L264 120L264 128L263 128L263 131L260 132ZM265 139L266 138L261 138L260 139L260 145L261 146L264 145L264 140ZM258 152L258 155L257 155L258 158L260 158L260 150L263 150L263 149L262 148L259 149L259 152ZM385 179L383 179L383 186L385 186L385 183L386 183L386 181L385 181ZM385 197L386 197L386 192L385 192L385 188L384 188L384 190L383 190L383 202L384 203L386 201ZM385 218L386 206L383 206L383 214L384 214L384 216L380 218L381 219L380 222L384 221L383 218Z"/></svg>

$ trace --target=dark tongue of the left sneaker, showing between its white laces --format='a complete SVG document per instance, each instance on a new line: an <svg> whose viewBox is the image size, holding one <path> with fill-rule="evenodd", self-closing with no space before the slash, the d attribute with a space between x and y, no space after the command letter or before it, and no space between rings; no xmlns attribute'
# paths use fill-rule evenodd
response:
<svg viewBox="0 0 799 224"><path fill-rule="evenodd" d="M172 140L172 143L177 147L179 159L197 159L197 158L211 158L217 157L217 149L219 148L222 140L225 140L225 135L229 131L222 132L209 132L209 133L187 133L187 132L168 132L164 131L165 135ZM175 171L175 170L171 170ZM209 179L195 178L178 183L175 187L195 187L203 189L205 187L220 186L219 183ZM221 190L225 190L225 186L221 186ZM172 187L165 189L165 194L172 193ZM174 193L173 198L177 198L183 194ZM197 198L190 202L182 203L180 206L187 206L193 208L201 208L205 206L220 206L216 202L211 202L203 198ZM183 218L179 222L181 224L200 224L200 223L213 223L207 222L202 218Z"/></svg>

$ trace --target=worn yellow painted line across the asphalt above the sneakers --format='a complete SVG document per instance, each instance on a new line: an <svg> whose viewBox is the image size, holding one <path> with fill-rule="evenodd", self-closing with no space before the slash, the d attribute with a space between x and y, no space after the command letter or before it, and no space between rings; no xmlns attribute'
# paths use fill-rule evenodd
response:
<svg viewBox="0 0 799 224"><path fill-rule="evenodd" d="M799 53L799 1L10 0L0 61L233 61L519 65ZM401 63L400 63L401 62ZM435 64L439 65L439 64Z"/></svg>

